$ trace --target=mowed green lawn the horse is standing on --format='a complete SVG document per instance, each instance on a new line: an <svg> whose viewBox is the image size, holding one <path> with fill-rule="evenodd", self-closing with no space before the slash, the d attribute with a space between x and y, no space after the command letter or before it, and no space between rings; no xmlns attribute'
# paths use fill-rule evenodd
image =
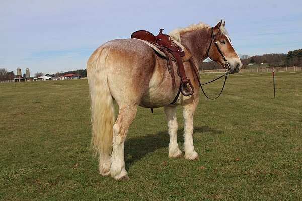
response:
<svg viewBox="0 0 302 201"><path fill-rule="evenodd" d="M0 84L0 200L302 200L302 74L277 73L276 100L270 73L230 75L219 99L200 97L198 161L169 159L163 108L139 107L130 180L115 181L90 151L87 80ZM182 148L181 107L178 121Z"/></svg>

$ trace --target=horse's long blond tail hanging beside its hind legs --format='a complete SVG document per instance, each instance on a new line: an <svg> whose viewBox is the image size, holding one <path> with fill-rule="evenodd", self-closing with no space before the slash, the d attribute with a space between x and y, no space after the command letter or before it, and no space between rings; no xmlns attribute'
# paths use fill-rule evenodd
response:
<svg viewBox="0 0 302 201"><path fill-rule="evenodd" d="M92 138L91 148L94 157L100 154L100 159L108 157L112 152L114 107L110 94L107 73L105 70L106 51L100 52L100 59L90 58L87 65L88 82L91 96ZM104 59L102 59L104 57ZM99 62L96 62L96 60Z"/></svg>

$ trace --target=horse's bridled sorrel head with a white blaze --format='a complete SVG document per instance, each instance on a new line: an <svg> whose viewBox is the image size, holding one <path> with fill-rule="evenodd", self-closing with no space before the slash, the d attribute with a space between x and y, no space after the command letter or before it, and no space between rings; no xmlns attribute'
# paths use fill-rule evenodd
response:
<svg viewBox="0 0 302 201"><path fill-rule="evenodd" d="M225 30L225 21L222 20L211 28L211 43L207 50L207 55L213 61L224 66L229 73L237 73L242 64L231 39Z"/></svg>

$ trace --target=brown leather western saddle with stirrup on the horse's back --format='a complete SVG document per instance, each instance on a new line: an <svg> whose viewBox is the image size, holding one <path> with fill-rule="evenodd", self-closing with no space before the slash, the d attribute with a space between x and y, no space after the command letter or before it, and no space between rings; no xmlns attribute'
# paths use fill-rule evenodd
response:
<svg viewBox="0 0 302 201"><path fill-rule="evenodd" d="M171 103L173 104L176 102L180 91L184 96L189 96L194 93L194 87L192 86L191 81L186 76L183 61L181 59L181 57L185 56L184 50L179 47L176 43L174 43L169 35L163 34L163 30L164 29L160 29L160 33L157 36L154 36L149 31L138 30L131 34L131 38L136 38L152 43L158 49L162 50L165 53L167 59L167 67L172 78L173 88L175 88L175 77L172 61L176 61L177 74L181 79L181 85L177 96Z"/></svg>

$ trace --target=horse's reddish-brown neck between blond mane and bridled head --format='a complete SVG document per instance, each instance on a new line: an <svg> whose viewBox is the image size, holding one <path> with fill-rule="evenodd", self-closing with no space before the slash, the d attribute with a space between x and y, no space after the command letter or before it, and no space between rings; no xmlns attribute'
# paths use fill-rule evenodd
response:
<svg viewBox="0 0 302 201"><path fill-rule="evenodd" d="M207 58L210 39L209 28L187 32L180 37L181 43L188 48L197 66L200 66L202 61Z"/></svg>

